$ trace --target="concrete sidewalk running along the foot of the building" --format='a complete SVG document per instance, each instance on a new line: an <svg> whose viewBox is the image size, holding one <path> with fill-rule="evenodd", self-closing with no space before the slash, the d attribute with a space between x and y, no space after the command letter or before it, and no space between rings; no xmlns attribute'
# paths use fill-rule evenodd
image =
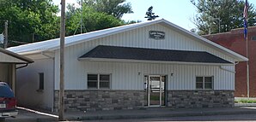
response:
<svg viewBox="0 0 256 122"><path fill-rule="evenodd" d="M228 115L228 114L252 114L256 113L256 107L228 107L228 108L143 108L140 110L114 110L99 112L69 112L65 113L66 120L88 120L88 119L143 119L160 117L202 116L202 115ZM57 114L57 113L53 113ZM16 118L6 119L5 122L42 122L57 121L57 117L31 113L24 110L19 111Z"/></svg>

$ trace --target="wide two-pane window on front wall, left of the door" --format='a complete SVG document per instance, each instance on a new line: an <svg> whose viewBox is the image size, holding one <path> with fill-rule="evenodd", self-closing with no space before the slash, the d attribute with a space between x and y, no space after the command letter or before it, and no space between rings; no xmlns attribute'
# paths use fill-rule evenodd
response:
<svg viewBox="0 0 256 122"><path fill-rule="evenodd" d="M110 74L88 74L88 89L110 89Z"/></svg>

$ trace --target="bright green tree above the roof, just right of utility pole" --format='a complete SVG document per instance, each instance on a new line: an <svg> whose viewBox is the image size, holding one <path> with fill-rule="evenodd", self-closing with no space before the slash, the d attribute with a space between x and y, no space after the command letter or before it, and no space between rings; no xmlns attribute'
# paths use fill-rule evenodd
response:
<svg viewBox="0 0 256 122"><path fill-rule="evenodd" d="M72 4L68 5L67 16L67 36L80 33L80 31L77 30L81 29L81 18L82 32L92 32L125 24L123 20L119 20L113 15L107 15L106 13L95 11L86 4L83 4L82 9L76 9L76 7Z"/></svg>

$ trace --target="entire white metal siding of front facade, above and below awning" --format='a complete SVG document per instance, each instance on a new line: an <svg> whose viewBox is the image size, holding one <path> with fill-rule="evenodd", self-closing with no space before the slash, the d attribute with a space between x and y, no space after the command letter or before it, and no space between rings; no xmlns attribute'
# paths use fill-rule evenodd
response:
<svg viewBox="0 0 256 122"><path fill-rule="evenodd" d="M166 32L165 39L149 38L149 31L151 30ZM207 51L227 61L234 62L231 57L223 55L221 52L193 40L193 38L156 24L67 47L65 49L65 89L85 90L87 87L87 73L112 73L113 90L143 90L143 74L168 74L168 88L170 90L195 90L195 77L197 75L213 75L215 90L235 89L235 73L223 71L218 66L77 60L79 56L90 49L94 49L97 45ZM55 55L56 64L59 64L58 51ZM229 67L234 68L234 66ZM59 66L56 65L55 69L59 69ZM138 72L142 74L139 76L137 75ZM170 76L170 73L174 73L174 76ZM58 71L55 72L55 76L55 90L58 90Z"/></svg>

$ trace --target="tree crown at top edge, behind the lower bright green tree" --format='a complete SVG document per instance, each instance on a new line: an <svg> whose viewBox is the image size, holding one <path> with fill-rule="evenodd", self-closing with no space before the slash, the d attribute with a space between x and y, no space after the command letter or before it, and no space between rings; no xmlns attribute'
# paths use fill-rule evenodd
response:
<svg viewBox="0 0 256 122"><path fill-rule="evenodd" d="M84 0L88 7L97 12L113 15L121 19L124 14L133 13L131 3L125 3L125 0Z"/></svg>

